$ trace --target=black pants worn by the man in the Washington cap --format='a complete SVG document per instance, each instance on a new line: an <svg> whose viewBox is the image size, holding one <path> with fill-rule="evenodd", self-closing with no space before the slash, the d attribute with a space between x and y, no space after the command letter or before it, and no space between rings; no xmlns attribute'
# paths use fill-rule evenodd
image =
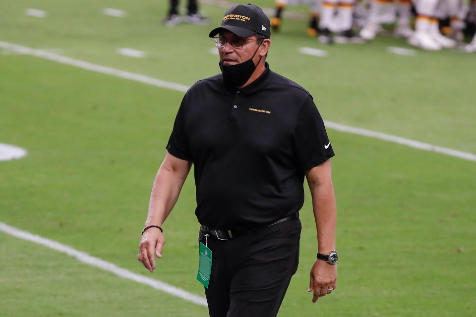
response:
<svg viewBox="0 0 476 317"><path fill-rule="evenodd" d="M199 241L212 250L210 317L275 317L297 270L300 233L299 219L225 241L200 229Z"/></svg>

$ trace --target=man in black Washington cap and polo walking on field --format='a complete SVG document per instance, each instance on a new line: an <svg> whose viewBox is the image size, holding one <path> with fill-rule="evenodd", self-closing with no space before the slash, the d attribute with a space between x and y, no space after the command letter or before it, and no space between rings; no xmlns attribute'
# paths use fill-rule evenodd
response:
<svg viewBox="0 0 476 317"><path fill-rule="evenodd" d="M297 269L304 176L319 253L312 302L336 288L334 152L309 93L265 62L270 35L269 19L251 4L229 9L210 32L222 74L198 81L182 100L139 246L152 272L161 226L195 164L200 260L212 253L210 275L200 264L199 276L211 317L277 315Z"/></svg>

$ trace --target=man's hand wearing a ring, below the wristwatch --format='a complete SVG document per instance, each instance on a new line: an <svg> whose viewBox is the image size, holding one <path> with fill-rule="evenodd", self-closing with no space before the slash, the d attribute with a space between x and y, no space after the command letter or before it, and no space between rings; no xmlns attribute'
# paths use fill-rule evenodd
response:
<svg viewBox="0 0 476 317"><path fill-rule="evenodd" d="M312 303L317 299L330 294L337 287L337 266L316 259L311 268L308 292L314 291Z"/></svg>

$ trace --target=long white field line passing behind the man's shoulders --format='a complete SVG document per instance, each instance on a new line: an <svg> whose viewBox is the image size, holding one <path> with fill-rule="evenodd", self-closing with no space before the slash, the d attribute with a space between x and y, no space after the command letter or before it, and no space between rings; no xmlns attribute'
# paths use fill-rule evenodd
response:
<svg viewBox="0 0 476 317"><path fill-rule="evenodd" d="M35 50L31 49L28 47L16 45L16 44L11 44L8 42L2 42L0 41L0 48L3 49L8 49L10 51L14 51L17 53L22 53L22 54L29 54L37 57L42 57L50 60L54 60L63 64L68 64L84 69L88 69L91 71L99 72L99 73L104 73L108 75L113 75L129 80L134 80L138 81L144 84L148 85L153 85L156 87L161 87L161 88L166 88L166 89L171 89L171 90L176 90L176 91L181 91L181 92L186 92L188 90L188 86L181 85L181 84L176 84L176 83L171 83L167 81L163 81L160 79L155 79L151 78L145 75L140 75L140 74L135 74L135 73L130 73L127 71L115 69L115 68L110 68L106 66L101 66L97 64L92 64L86 61L82 61L79 59L74 59L71 57L67 56L62 56L54 53L49 53L41 50ZM467 159L471 161L476 161L476 155L468 152L463 152L463 151L458 151L458 150L453 150L453 149L448 149L448 148L443 148L439 147L436 145L431 145L427 143L422 143L416 140L411 140L411 139L405 139L402 137L390 135L390 134L385 134L385 133L380 133L380 132L374 132L370 130L365 130L361 128L355 128L352 126L340 124L340 123L335 123L335 122L330 122L330 121L324 121L324 123L331 129L342 131L342 132L349 132L357 135L363 135L371 138L376 138L376 139L381 139L389 142L394 142L402 145L406 145L412 148L420 149L420 150L425 150L425 151L430 151L430 152L437 152L445 155L449 155L452 157L460 158L460 159Z"/></svg>

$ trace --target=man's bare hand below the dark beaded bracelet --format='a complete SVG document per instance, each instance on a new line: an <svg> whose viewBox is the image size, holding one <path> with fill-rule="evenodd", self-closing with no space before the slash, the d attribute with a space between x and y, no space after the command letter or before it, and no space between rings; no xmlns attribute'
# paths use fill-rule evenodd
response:
<svg viewBox="0 0 476 317"><path fill-rule="evenodd" d="M164 235L159 228L149 228L142 235L139 244L139 254L137 255L137 260L144 264L150 272L153 272L155 269L155 258L154 253L157 258L162 258L162 249L164 248ZM155 252L154 252L155 251Z"/></svg>

